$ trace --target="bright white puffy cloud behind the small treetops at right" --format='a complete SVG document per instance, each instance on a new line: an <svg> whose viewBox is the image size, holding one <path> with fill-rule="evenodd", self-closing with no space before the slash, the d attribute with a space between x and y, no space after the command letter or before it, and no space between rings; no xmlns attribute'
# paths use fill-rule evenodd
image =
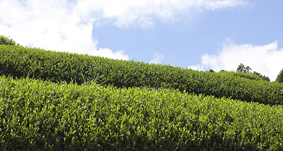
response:
<svg viewBox="0 0 283 151"><path fill-rule="evenodd" d="M279 71L283 68L283 49L278 48L278 41L267 45L242 44L237 45L231 39L222 44L222 48L215 55L204 54L200 68L237 70L240 63L250 66L253 71L267 75L275 81Z"/></svg>

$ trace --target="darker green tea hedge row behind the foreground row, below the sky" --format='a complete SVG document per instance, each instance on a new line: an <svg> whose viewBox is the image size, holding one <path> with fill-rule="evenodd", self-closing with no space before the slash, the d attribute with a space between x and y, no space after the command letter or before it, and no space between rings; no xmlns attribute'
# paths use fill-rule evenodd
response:
<svg viewBox="0 0 283 151"><path fill-rule="evenodd" d="M170 88L188 93L231 97L247 102L283 104L283 85L242 72L205 72L170 65L123 61L99 56L0 45L0 71L14 77L33 71L41 79L82 84L96 79L118 88Z"/></svg>

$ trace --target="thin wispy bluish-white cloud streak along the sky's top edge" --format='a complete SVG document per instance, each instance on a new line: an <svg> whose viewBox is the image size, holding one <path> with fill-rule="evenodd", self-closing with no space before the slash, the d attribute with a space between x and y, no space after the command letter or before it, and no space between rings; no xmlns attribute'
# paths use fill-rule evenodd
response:
<svg viewBox="0 0 283 151"><path fill-rule="evenodd" d="M154 19L178 21L184 15L194 14L194 11L214 11L249 4L246 0L97 0L91 5L99 10L102 19L108 19L108 22L120 28L139 26L149 29L154 25Z"/></svg>

